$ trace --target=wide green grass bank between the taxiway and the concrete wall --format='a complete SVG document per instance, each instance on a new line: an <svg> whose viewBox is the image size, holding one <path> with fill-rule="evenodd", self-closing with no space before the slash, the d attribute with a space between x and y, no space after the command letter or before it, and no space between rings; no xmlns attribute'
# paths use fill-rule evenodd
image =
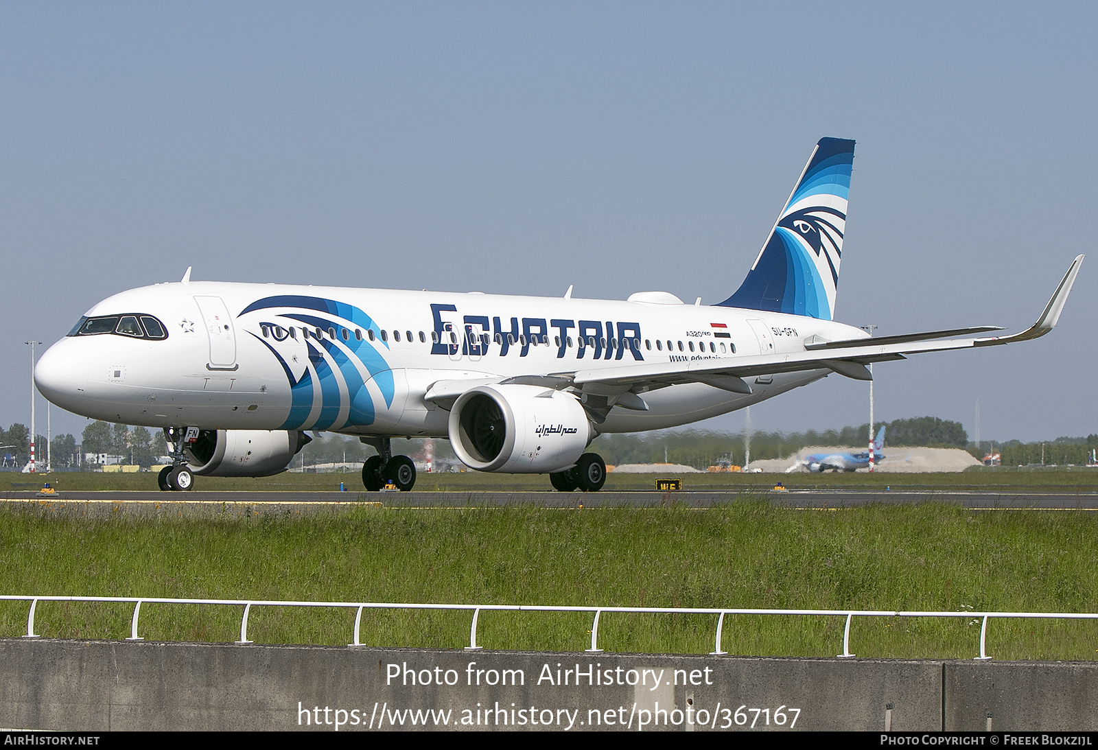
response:
<svg viewBox="0 0 1098 750"><path fill-rule="evenodd" d="M309 475L306 475L309 477ZM108 519L0 508L3 593L307 601L1095 612L1098 516L944 505L797 511L736 502L670 508L349 508ZM0 603L0 635L27 605ZM40 603L48 637L123 638L132 605ZM240 609L142 607L150 640L232 641ZM362 642L459 648L469 613L368 612ZM257 642L350 641L354 611L254 608ZM604 614L618 652L705 653L715 616ZM737 616L732 653L834 656L842 617ZM591 616L482 612L486 648L582 650ZM861 657L971 658L975 618L855 618ZM993 620L1000 659L1098 658L1094 622Z"/></svg>

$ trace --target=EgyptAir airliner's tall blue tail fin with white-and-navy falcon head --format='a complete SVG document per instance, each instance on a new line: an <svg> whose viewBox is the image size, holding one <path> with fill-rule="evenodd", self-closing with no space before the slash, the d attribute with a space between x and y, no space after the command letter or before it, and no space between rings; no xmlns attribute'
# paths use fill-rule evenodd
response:
<svg viewBox="0 0 1098 750"><path fill-rule="evenodd" d="M717 304L832 318L853 161L853 141L820 138L748 278Z"/></svg>

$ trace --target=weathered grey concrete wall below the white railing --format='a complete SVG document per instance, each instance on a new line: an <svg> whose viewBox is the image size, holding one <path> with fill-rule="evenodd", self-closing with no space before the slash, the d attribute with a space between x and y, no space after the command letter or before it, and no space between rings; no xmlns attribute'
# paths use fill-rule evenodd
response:
<svg viewBox="0 0 1098 750"><path fill-rule="evenodd" d="M988 712L1094 729L1096 689L1089 663L0 639L0 726L19 729L879 731L889 709L893 730L981 730Z"/></svg>

